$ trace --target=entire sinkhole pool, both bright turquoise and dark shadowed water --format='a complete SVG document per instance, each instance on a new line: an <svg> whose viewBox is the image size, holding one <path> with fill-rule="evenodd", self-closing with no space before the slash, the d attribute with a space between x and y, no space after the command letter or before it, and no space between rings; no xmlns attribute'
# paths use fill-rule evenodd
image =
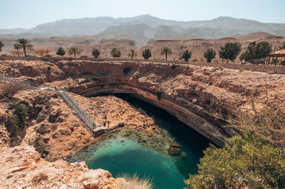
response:
<svg viewBox="0 0 285 189"><path fill-rule="evenodd" d="M78 151L70 161L86 161L89 168L103 168L113 177L120 173L137 173L141 178L149 177L155 188L186 187L183 180L189 173L197 173L197 163L209 141L162 109L128 95L116 96L152 116L165 134L162 139L175 140L182 146L180 156L146 148L138 140L118 133ZM162 143L157 145L164 147Z"/></svg>

